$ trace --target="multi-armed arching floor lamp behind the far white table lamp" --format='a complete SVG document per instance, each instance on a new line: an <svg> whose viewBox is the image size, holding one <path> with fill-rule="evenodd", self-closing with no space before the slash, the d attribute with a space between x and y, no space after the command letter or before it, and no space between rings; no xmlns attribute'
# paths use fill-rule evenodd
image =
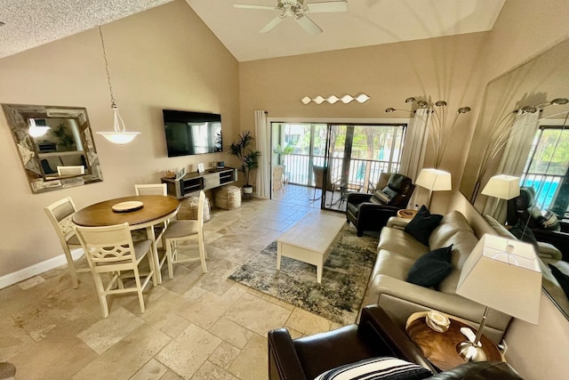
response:
<svg viewBox="0 0 569 380"><path fill-rule="evenodd" d="M422 117L415 115L416 117L420 117L421 120L427 125L429 120L431 121L432 128L429 129L429 136L433 143L433 149L435 150L435 167L437 168L441 164L441 160L443 159L443 155L445 154L446 144L448 142L448 138L450 137L451 133L453 133L454 126L458 118L462 114L467 114L470 112L470 107L461 107L457 109L456 116L454 117L453 124L450 127L447 127L447 120L446 120L446 101L436 101L434 104L429 103L428 101L424 100L417 100L413 96L405 99L405 103L412 103L416 104L416 108L418 109L427 109L428 115L432 115L432 117L428 117L427 120L423 119ZM409 114L414 114L413 109L394 109L389 107L389 109L385 109L386 113L389 112L396 112L396 111L404 111L408 112Z"/></svg>

